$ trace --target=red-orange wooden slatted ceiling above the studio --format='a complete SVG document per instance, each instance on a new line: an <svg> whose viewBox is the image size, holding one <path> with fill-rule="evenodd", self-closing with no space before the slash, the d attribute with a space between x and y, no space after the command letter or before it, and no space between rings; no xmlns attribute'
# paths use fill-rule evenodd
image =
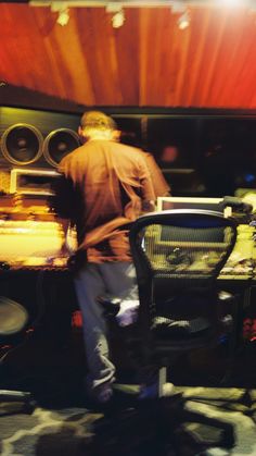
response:
<svg viewBox="0 0 256 456"><path fill-rule="evenodd" d="M62 27L0 3L1 79L87 106L256 108L256 12L191 7L184 30L166 7L125 14L115 29L104 8L69 8Z"/></svg>

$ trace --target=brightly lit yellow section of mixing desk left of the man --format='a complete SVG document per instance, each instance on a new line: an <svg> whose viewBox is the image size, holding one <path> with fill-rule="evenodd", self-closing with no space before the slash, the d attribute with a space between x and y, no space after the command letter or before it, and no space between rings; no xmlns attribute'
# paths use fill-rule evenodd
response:
<svg viewBox="0 0 256 456"><path fill-rule="evenodd" d="M62 225L47 200L0 199L0 268L62 269L67 257L61 252ZM75 232L68 233L71 250L76 249Z"/></svg>

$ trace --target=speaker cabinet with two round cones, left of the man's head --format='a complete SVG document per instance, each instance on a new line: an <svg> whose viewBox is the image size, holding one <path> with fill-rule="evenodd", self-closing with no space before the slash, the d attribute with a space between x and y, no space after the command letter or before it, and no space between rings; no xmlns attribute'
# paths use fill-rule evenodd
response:
<svg viewBox="0 0 256 456"><path fill-rule="evenodd" d="M79 146L80 115L0 108L1 170L57 167Z"/></svg>

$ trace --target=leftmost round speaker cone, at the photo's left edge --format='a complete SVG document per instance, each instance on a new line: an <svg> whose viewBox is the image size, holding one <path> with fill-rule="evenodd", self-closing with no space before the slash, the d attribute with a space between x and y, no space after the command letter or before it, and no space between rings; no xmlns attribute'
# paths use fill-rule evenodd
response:
<svg viewBox="0 0 256 456"><path fill-rule="evenodd" d="M18 123L2 135L1 148L4 158L14 164L34 163L42 155L43 137L33 125Z"/></svg>

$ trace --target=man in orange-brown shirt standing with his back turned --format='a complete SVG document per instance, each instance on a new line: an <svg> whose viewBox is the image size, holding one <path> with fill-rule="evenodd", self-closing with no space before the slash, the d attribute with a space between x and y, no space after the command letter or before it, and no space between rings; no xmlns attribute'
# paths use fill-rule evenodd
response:
<svg viewBox="0 0 256 456"><path fill-rule="evenodd" d="M75 288L84 321L87 387L99 403L112 396L115 367L98 297L138 299L129 224L142 210L153 210L155 200L145 160L135 148L113 140L114 128L102 112L82 115L79 135L85 144L61 161L54 204L64 230L69 221L77 230Z"/></svg>

